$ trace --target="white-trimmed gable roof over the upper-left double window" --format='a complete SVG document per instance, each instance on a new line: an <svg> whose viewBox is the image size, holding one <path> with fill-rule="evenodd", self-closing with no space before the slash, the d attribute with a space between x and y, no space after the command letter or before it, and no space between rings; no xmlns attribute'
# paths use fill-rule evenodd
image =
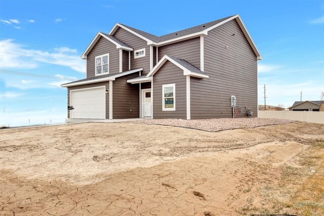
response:
<svg viewBox="0 0 324 216"><path fill-rule="evenodd" d="M82 56L81 56L82 59L87 59L87 55L89 54L91 49L95 46L95 44L98 42L100 37L103 37L103 38L107 39L108 41L110 41L111 43L115 44L116 49L123 49L123 50L133 51L133 48L131 46L127 45L126 43L116 39L115 37L113 37L113 36L111 36L109 34L106 34L106 33L103 33L103 32L99 31L96 34L96 37L92 40L92 42L87 47L86 51L82 54Z"/></svg>

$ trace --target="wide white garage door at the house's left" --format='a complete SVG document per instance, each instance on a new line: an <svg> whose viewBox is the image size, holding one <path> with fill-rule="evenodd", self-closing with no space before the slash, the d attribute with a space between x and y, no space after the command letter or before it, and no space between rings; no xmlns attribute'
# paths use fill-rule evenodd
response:
<svg viewBox="0 0 324 216"><path fill-rule="evenodd" d="M71 119L105 119L105 87L70 91Z"/></svg>

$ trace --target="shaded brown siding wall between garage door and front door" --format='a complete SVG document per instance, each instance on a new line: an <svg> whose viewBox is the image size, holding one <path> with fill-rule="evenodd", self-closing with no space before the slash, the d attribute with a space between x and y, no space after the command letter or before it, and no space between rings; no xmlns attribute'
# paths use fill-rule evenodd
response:
<svg viewBox="0 0 324 216"><path fill-rule="evenodd" d="M112 118L139 118L139 84L127 83L139 73L116 78L112 83ZM130 112L132 110L132 112Z"/></svg>

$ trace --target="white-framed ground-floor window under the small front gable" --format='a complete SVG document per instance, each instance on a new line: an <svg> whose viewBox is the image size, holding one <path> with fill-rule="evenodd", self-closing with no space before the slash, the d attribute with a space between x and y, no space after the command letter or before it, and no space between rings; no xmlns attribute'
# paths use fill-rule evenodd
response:
<svg viewBox="0 0 324 216"><path fill-rule="evenodd" d="M176 110L176 84L162 86L163 107L162 111Z"/></svg>

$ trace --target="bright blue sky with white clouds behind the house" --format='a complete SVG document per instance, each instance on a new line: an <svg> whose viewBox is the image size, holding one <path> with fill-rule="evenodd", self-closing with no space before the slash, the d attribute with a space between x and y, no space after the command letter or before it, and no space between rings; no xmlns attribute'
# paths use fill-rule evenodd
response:
<svg viewBox="0 0 324 216"><path fill-rule="evenodd" d="M259 103L264 103L264 84L267 104L288 107L300 100L300 91L303 100L319 100L324 1L2 0L0 125L64 122L67 91L59 84L85 78L80 55L98 31L108 33L116 22L164 35L234 14L263 57Z"/></svg>

